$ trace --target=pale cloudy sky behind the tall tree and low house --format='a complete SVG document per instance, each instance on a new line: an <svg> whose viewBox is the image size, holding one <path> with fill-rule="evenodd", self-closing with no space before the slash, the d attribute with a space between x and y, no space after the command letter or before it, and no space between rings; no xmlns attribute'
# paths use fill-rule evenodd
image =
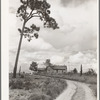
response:
<svg viewBox="0 0 100 100"><path fill-rule="evenodd" d="M18 28L22 22L16 17L20 0L9 0L9 71L13 71L19 43ZM32 61L41 63L50 59L53 64L66 64L68 69L93 68L97 70L97 1L96 0L47 0L51 4L51 16L60 29L43 28L43 23L34 18L27 25L40 26L39 38L28 42L23 38L19 66L29 71Z"/></svg>

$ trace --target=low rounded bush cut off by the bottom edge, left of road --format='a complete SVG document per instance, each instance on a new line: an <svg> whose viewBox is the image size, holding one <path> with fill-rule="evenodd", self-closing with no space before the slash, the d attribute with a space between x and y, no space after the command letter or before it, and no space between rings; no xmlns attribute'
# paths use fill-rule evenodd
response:
<svg viewBox="0 0 100 100"><path fill-rule="evenodd" d="M46 94L32 94L28 100L53 100L50 96Z"/></svg>

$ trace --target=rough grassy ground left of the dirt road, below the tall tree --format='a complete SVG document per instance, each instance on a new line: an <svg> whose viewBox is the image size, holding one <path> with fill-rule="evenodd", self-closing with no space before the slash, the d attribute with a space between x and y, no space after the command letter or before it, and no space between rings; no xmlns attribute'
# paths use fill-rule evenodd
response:
<svg viewBox="0 0 100 100"><path fill-rule="evenodd" d="M26 75L9 79L9 100L54 100L67 86L62 79Z"/></svg>

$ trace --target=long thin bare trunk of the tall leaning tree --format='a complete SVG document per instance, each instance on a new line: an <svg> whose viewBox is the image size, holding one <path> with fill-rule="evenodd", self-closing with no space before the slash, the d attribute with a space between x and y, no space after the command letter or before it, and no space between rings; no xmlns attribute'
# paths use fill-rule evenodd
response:
<svg viewBox="0 0 100 100"><path fill-rule="evenodd" d="M20 36L20 41L19 41L19 45L18 45L16 60L15 60L15 66L14 66L14 70L13 70L13 78L16 78L17 64L18 64L18 58L19 58L19 53L20 53L21 44L22 44L22 38L23 38L24 27L25 27L25 21L24 21L24 23L23 23L22 32L21 32L21 36Z"/></svg>

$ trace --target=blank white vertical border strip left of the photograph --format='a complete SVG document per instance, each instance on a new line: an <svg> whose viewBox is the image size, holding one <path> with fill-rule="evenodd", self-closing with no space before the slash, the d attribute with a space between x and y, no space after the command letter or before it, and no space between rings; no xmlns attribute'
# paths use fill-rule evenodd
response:
<svg viewBox="0 0 100 100"><path fill-rule="evenodd" d="M1 0L1 100L9 100L8 2L9 0Z"/></svg>

